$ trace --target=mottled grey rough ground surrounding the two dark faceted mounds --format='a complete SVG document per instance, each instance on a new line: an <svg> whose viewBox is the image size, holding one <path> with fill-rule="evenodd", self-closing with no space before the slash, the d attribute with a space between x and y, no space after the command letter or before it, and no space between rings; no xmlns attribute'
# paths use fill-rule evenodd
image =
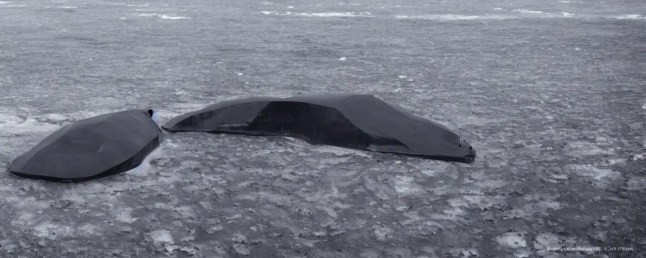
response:
<svg viewBox="0 0 646 258"><path fill-rule="evenodd" d="M0 165L92 115L336 92L476 161L165 134L129 174L1 174L0 257L646 257L643 0L300 2L0 1Z"/></svg>

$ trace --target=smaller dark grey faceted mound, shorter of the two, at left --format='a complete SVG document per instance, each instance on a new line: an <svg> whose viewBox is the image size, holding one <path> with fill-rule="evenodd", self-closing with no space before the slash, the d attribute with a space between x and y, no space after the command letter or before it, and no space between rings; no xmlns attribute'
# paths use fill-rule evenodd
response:
<svg viewBox="0 0 646 258"><path fill-rule="evenodd" d="M20 177L76 182L127 172L160 146L160 127L149 109L125 110L63 126L17 157Z"/></svg>

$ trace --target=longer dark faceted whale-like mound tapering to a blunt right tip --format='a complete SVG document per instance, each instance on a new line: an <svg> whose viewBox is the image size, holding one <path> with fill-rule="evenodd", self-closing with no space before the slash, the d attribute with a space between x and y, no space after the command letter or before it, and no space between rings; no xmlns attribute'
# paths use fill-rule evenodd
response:
<svg viewBox="0 0 646 258"><path fill-rule="evenodd" d="M368 94L256 97L174 117L169 132L281 135L311 144L470 163L475 150L441 124Z"/></svg>

